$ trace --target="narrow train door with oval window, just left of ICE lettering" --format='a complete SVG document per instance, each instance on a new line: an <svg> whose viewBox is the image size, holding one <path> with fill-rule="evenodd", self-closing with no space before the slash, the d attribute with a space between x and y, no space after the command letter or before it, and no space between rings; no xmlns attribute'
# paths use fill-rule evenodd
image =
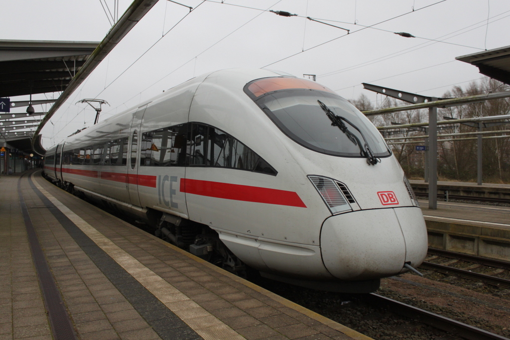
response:
<svg viewBox="0 0 510 340"><path fill-rule="evenodd" d="M130 130L130 148L127 153L127 192L129 192L131 203L136 206L141 206L140 196L138 195L138 167L140 163L138 160L142 138L140 127L146 108L147 104L139 107L133 116Z"/></svg>

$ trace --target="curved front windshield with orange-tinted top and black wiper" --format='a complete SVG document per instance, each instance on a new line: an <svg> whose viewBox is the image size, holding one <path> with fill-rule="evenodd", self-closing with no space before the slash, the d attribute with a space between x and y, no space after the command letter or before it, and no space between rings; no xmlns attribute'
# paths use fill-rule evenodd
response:
<svg viewBox="0 0 510 340"><path fill-rule="evenodd" d="M391 154L370 121L333 91L307 80L266 78L245 92L291 139L309 149L346 157Z"/></svg>

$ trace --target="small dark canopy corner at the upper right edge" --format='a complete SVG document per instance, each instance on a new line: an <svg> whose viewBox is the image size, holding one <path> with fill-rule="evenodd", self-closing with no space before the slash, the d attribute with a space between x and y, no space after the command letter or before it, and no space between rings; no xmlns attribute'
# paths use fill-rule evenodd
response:
<svg viewBox="0 0 510 340"><path fill-rule="evenodd" d="M455 58L478 67L480 73L510 85L510 46Z"/></svg>

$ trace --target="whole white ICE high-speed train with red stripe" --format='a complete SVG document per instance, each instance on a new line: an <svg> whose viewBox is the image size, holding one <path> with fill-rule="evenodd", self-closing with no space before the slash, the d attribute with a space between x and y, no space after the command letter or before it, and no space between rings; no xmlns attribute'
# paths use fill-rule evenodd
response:
<svg viewBox="0 0 510 340"><path fill-rule="evenodd" d="M195 77L48 149L44 172L233 272L370 292L427 252L377 129L326 87L274 71Z"/></svg>

